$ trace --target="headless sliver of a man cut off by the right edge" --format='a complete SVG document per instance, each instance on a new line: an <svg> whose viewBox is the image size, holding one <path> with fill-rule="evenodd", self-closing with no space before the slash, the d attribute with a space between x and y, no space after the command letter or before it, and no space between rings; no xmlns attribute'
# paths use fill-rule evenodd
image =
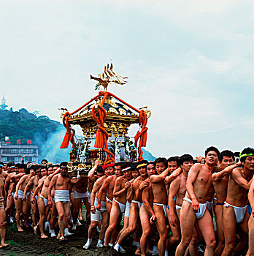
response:
<svg viewBox="0 0 254 256"><path fill-rule="evenodd" d="M254 165L254 164L253 164ZM254 255L254 180L250 185L249 191L249 202L252 209L248 227L249 227L249 250L247 252L247 256Z"/></svg>

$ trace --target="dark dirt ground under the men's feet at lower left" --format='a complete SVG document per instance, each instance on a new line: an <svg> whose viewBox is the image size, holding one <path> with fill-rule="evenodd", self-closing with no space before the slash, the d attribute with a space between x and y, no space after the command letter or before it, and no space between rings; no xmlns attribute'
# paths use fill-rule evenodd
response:
<svg viewBox="0 0 254 256"><path fill-rule="evenodd" d="M57 241L55 238L42 239L35 236L30 228L23 233L18 233L16 225L7 225L6 242L10 244L6 249L0 249L2 256L69 256L69 255L117 255L113 249L96 249L98 233L93 239L91 249L85 250L82 246L88 238L88 231L84 225L74 230L73 236L69 236L67 241ZM47 234L47 233L46 233ZM124 247L127 249L125 255L134 255L135 248L131 246L132 241L126 240Z"/></svg>

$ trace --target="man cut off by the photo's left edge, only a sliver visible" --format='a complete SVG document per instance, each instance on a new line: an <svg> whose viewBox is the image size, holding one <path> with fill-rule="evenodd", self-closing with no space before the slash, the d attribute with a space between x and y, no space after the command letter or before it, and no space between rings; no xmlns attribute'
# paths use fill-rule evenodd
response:
<svg viewBox="0 0 254 256"><path fill-rule="evenodd" d="M4 211L4 176L2 176L2 172L4 170L4 163L0 162L0 237L1 237L1 244L0 249L5 248L9 246L9 244L5 244L5 233L6 233L6 227L5 227L5 221L6 221L6 214ZM5 175L5 174L4 174Z"/></svg>

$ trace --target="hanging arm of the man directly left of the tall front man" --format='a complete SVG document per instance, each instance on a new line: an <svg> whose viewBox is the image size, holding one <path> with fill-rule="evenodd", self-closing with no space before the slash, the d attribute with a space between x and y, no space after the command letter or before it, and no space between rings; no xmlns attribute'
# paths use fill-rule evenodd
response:
<svg viewBox="0 0 254 256"><path fill-rule="evenodd" d="M177 225L177 216L174 211L175 208L175 203L174 203L174 197L177 195L177 191L179 190L180 187L180 182L179 179L176 178L172 183L170 184L169 187L169 219L170 219L170 224L175 227Z"/></svg>

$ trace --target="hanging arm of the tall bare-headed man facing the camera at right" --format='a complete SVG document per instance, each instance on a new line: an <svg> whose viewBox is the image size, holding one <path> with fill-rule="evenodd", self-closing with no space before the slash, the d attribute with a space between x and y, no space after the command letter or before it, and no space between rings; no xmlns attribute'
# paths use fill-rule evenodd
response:
<svg viewBox="0 0 254 256"><path fill-rule="evenodd" d="M201 164L193 165L189 170L188 178L186 181L186 190L190 195L190 198L192 200L192 208L193 208L193 211L195 212L199 211L199 201L196 199L196 195L193 189L193 183L194 181L196 181L196 177L199 174L200 168L201 168Z"/></svg>

